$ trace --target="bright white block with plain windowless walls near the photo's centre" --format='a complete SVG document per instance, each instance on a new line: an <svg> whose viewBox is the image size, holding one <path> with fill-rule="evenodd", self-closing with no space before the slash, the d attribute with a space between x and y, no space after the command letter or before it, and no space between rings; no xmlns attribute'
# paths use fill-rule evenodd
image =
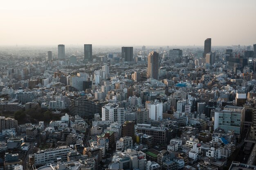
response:
<svg viewBox="0 0 256 170"><path fill-rule="evenodd" d="M148 116L151 120L160 121L163 119L163 103L155 100L148 104Z"/></svg>

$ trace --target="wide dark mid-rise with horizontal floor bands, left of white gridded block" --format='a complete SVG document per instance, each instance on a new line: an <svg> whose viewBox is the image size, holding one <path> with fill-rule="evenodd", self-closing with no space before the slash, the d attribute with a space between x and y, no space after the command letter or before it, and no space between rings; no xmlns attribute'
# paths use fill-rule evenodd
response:
<svg viewBox="0 0 256 170"><path fill-rule="evenodd" d="M72 116L79 115L83 118L94 116L94 114L101 114L101 103L95 103L86 97L72 98L70 100L70 114Z"/></svg>

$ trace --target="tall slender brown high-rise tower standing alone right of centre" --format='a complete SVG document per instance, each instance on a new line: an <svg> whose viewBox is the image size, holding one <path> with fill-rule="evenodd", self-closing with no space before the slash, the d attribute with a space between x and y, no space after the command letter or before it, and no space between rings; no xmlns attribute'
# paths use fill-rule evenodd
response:
<svg viewBox="0 0 256 170"><path fill-rule="evenodd" d="M148 69L147 78L154 78L158 80L159 69L159 54L156 51L152 51L148 55Z"/></svg>

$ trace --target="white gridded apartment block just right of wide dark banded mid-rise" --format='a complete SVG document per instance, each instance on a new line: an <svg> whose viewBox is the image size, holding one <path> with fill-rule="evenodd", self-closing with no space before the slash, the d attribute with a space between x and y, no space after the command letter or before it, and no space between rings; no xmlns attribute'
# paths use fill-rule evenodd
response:
<svg viewBox="0 0 256 170"><path fill-rule="evenodd" d="M124 107L114 103L108 103L102 107L102 121L124 123Z"/></svg>

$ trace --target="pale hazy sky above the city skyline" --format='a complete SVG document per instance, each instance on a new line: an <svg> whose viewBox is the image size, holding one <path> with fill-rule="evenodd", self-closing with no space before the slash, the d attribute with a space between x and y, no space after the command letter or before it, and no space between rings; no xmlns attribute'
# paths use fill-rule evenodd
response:
<svg viewBox="0 0 256 170"><path fill-rule="evenodd" d="M253 45L256 0L1 0L0 45Z"/></svg>

